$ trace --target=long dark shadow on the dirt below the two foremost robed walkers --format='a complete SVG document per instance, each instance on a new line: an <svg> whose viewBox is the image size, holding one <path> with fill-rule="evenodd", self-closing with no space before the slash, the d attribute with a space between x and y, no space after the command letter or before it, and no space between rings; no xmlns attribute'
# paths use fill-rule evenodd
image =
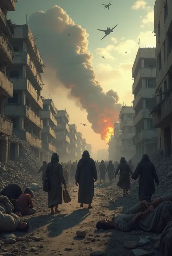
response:
<svg viewBox="0 0 172 256"><path fill-rule="evenodd" d="M48 236L57 237L62 231L72 228L85 220L91 213L89 209L78 209L71 214L41 215L29 219L30 230L47 225Z"/></svg>

